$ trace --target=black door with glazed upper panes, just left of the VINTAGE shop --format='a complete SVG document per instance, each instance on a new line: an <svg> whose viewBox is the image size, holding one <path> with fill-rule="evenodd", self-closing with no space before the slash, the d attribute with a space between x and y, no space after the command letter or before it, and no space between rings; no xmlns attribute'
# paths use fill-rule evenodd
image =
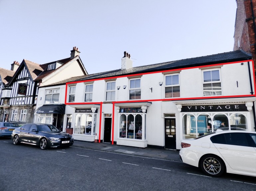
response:
<svg viewBox="0 0 256 191"><path fill-rule="evenodd" d="M175 119L165 119L165 148L176 149L176 122Z"/></svg>

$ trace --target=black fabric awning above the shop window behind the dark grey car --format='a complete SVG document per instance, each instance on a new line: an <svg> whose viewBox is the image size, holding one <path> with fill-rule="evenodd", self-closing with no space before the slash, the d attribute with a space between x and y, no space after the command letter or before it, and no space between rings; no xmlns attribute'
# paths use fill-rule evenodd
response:
<svg viewBox="0 0 256 191"><path fill-rule="evenodd" d="M65 104L48 104L39 107L37 114L65 114Z"/></svg>

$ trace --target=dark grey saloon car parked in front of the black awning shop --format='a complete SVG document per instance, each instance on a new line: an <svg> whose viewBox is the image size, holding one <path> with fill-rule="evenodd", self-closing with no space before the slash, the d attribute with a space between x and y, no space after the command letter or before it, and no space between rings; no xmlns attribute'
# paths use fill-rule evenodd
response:
<svg viewBox="0 0 256 191"><path fill-rule="evenodd" d="M25 124L12 132L13 144L26 143L38 145L41 149L50 147L69 147L73 145L72 135L62 132L54 125L30 123Z"/></svg>

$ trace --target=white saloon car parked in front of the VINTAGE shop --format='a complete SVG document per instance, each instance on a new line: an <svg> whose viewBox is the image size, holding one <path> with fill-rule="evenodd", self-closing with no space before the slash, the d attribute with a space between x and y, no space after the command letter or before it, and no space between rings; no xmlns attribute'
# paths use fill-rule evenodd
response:
<svg viewBox="0 0 256 191"><path fill-rule="evenodd" d="M223 173L256 176L256 132L215 131L181 140L183 163L200 167L213 177Z"/></svg>

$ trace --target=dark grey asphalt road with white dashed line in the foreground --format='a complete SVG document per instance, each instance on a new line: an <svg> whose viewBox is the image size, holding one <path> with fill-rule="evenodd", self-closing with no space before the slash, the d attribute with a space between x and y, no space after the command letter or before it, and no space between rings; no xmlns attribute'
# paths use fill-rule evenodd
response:
<svg viewBox="0 0 256 191"><path fill-rule="evenodd" d="M93 151L41 150L0 138L0 191L256 191L256 177L212 178L182 162Z"/></svg>

